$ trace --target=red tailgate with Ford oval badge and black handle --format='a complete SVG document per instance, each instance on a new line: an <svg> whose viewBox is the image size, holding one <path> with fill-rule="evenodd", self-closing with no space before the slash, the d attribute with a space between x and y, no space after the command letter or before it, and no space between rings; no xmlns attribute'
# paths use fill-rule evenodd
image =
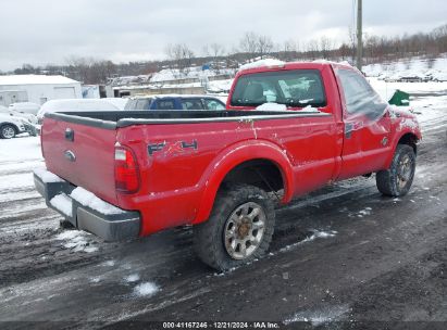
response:
<svg viewBox="0 0 447 330"><path fill-rule="evenodd" d="M115 129L45 118L42 152L48 170L116 204Z"/></svg>

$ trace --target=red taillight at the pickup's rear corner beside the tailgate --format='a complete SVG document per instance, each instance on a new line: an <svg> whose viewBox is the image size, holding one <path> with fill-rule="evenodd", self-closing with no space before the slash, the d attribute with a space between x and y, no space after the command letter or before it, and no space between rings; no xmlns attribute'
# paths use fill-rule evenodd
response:
<svg viewBox="0 0 447 330"><path fill-rule="evenodd" d="M134 193L139 189L138 164L134 153L123 147L115 148L115 189L123 193Z"/></svg>

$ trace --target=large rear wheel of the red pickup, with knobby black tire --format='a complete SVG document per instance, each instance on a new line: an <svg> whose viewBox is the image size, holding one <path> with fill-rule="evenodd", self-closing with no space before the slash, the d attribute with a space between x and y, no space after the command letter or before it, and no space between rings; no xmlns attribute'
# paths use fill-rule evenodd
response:
<svg viewBox="0 0 447 330"><path fill-rule="evenodd" d="M260 212L260 215L251 216L254 218L254 220L251 220L251 225L236 224L238 221L245 221L244 217L247 217L247 219L250 218L250 215L254 212L253 207L246 216L243 215L243 208L247 207L247 210L250 210L250 206L253 206L257 212ZM239 208L241 213L238 215L237 212ZM236 221L233 220L235 217L237 218ZM257 217L258 220L256 220ZM259 229L260 231L262 230L261 233L257 231L257 227L253 225L260 224L258 221L262 224L262 229ZM227 240L225 234L231 232L228 228L232 225L234 226L234 234L240 236L237 237L235 241L239 241L238 239L247 240L244 242L245 248L241 246L241 243L235 243L235 245L237 244L239 250L244 249L244 252L246 252L246 250L253 250L250 252L250 255L235 258L231 255L231 252L228 252L228 250L232 250L232 244L229 243L232 238L228 238L229 241L225 244ZM196 254L204 264L221 271L238 267L265 254L272 240L274 226L274 204L265 191L248 185L226 185L218 192L210 218L194 228ZM248 236L254 238L257 234L260 234L259 240L250 240L247 238ZM256 243L252 244L251 241ZM232 253L238 253L237 246Z"/></svg>

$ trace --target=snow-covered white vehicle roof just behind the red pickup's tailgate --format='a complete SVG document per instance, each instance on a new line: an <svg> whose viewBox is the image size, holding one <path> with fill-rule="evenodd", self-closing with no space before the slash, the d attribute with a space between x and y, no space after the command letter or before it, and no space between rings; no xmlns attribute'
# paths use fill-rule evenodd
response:
<svg viewBox="0 0 447 330"><path fill-rule="evenodd" d="M46 102L37 113L37 118L41 122L46 113L61 111L116 111L120 106L104 99L64 99L50 100Z"/></svg>

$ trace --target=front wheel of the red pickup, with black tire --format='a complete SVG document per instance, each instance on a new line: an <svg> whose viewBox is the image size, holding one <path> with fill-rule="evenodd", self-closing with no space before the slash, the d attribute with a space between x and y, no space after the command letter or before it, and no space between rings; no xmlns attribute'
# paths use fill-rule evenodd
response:
<svg viewBox="0 0 447 330"><path fill-rule="evenodd" d="M398 144L390 167L376 174L378 191L389 196L406 195L413 182L414 170L414 150L410 145Z"/></svg>

